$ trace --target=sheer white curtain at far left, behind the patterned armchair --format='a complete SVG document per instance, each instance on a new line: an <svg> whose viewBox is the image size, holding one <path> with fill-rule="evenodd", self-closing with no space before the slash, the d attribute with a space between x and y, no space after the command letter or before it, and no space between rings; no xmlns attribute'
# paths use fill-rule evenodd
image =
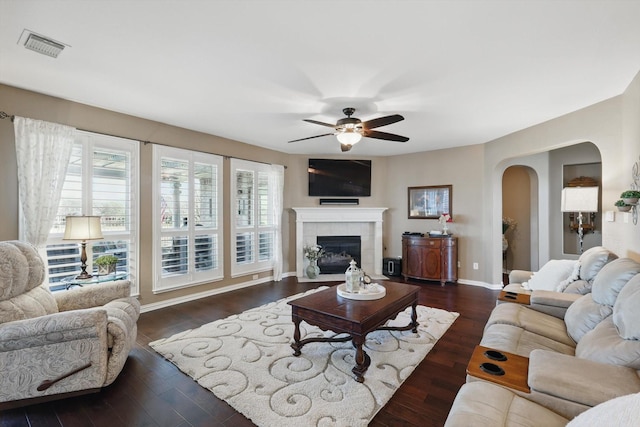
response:
<svg viewBox="0 0 640 427"><path fill-rule="evenodd" d="M18 160L20 240L42 251L58 212L75 129L17 116L13 129Z"/></svg>

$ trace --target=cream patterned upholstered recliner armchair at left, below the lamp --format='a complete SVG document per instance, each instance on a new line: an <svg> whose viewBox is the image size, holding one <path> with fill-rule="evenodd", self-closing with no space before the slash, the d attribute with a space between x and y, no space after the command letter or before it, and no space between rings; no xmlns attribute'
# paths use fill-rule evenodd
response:
<svg viewBox="0 0 640 427"><path fill-rule="evenodd" d="M0 242L0 410L99 391L135 343L128 280L52 293L44 278L33 246Z"/></svg>

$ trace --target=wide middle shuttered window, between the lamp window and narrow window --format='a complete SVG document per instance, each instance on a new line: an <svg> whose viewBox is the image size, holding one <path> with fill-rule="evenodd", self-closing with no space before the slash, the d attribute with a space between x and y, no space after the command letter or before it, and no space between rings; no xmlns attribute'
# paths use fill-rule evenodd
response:
<svg viewBox="0 0 640 427"><path fill-rule="evenodd" d="M154 291L221 279L222 158L153 148Z"/></svg>

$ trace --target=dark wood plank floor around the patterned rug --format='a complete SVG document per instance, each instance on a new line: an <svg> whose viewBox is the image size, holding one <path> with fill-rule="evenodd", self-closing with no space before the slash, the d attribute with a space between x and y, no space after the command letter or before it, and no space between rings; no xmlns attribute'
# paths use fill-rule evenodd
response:
<svg viewBox="0 0 640 427"><path fill-rule="evenodd" d="M371 426L425 427L444 423L465 381L467 362L480 342L498 294L468 285L408 283L421 286L420 304L457 311L460 317L380 410ZM0 413L0 427L253 426L151 350L148 343L322 284L287 278L144 313L138 322L137 345L112 385L97 394L5 411Z"/></svg>

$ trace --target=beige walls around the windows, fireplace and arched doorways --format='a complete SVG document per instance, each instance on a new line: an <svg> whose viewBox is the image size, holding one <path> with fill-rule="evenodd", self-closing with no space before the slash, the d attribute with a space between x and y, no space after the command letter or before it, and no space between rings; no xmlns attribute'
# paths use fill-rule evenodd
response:
<svg viewBox="0 0 640 427"><path fill-rule="evenodd" d="M295 216L291 207L315 206L317 198L307 194L306 168L308 156L294 156L261 149L211 135L189 131L161 123L143 120L115 112L101 110L58 98L0 85L0 110L35 119L47 120L95 132L153 141L176 147L236 156L249 160L283 164L285 171L285 214L283 221L284 271L295 269ZM537 194L539 218L550 215L549 151L576 143L591 141L602 156L603 206L613 206L620 192L629 187L631 167L640 159L640 74L621 96L589 106L548 122L490 141L486 144L436 150L373 160L372 197L361 198L363 206L388 207L384 223L384 256L401 253L401 235L404 231L438 229L436 220L407 218L407 187L421 185L453 185L452 232L459 241L459 277L472 284L499 284L502 280L502 175L513 165L523 165L535 171L538 177ZM17 238L17 177L13 127L9 120L0 121L0 158L3 185L0 197L0 239ZM141 146L141 186L151 185L151 146ZM358 156L349 156L355 158ZM336 155L336 158L345 156ZM228 161L225 162L228 166ZM228 170L228 168L227 168ZM554 184L555 185L555 184ZM229 188L225 188L225 212L229 211ZM535 191L534 191L535 193ZM148 218L150 192L142 191L141 216ZM180 291L153 295L151 292L151 266L144 254L151 253L151 228L142 221L141 300L143 304L185 297L191 293L250 280L247 277L228 277L229 261L225 264L227 277L221 282L196 286ZM225 227L228 230L228 227ZM536 261L546 262L551 254L548 222L540 221L532 230L531 239L538 253L531 254L532 267ZM624 222L623 215L616 221L603 223L603 245L621 256L640 260L640 225ZM229 236L225 235L225 241ZM228 253L228 245L225 251ZM480 266L474 270L472 265ZM270 273L265 272L261 277Z"/></svg>

